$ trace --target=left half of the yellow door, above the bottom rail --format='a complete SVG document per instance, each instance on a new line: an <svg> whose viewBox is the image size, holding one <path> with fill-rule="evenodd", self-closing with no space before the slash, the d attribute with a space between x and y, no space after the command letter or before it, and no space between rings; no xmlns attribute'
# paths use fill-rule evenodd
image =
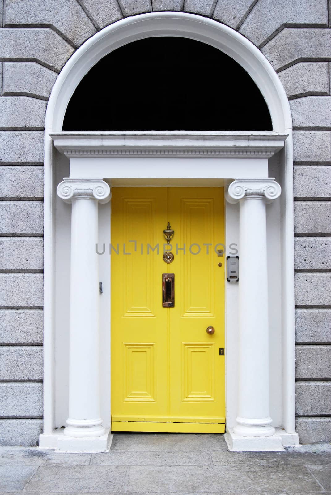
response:
<svg viewBox="0 0 331 495"><path fill-rule="evenodd" d="M146 254L147 244L162 242L166 199L164 188L112 189L113 414L162 415L167 410L167 319L159 282L164 262L156 251Z"/></svg>

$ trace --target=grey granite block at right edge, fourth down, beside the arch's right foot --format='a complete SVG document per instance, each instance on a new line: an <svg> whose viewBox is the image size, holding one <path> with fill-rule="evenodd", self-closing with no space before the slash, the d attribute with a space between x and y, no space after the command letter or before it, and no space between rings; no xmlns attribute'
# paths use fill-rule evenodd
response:
<svg viewBox="0 0 331 495"><path fill-rule="evenodd" d="M293 127L325 129L331 127L331 97L306 96L289 102Z"/></svg>

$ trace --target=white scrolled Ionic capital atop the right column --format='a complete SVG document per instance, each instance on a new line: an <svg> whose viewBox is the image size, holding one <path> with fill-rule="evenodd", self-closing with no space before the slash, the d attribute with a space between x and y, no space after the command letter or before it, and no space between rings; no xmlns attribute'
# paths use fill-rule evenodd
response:
<svg viewBox="0 0 331 495"><path fill-rule="evenodd" d="M245 197L257 196L265 198L267 203L279 198L281 186L275 178L267 179L236 179L229 186L226 199L229 203L237 203Z"/></svg>

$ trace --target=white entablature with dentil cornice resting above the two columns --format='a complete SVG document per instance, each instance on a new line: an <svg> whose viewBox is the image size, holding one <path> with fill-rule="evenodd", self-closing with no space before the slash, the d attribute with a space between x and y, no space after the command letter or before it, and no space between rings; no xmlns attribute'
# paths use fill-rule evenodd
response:
<svg viewBox="0 0 331 495"><path fill-rule="evenodd" d="M51 134L70 160L70 177L128 179L268 177L268 158L284 147L275 132L108 132ZM155 166L161 159L162 167ZM247 160L248 159L248 160Z"/></svg>

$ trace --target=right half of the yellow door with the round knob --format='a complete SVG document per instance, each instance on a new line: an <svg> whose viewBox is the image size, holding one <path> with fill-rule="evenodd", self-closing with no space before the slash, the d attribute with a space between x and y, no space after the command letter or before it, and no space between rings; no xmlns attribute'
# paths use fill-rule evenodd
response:
<svg viewBox="0 0 331 495"><path fill-rule="evenodd" d="M170 412L224 417L224 258L216 254L224 244L223 188L171 188L169 213L174 239L185 245L172 263L179 297L169 311Z"/></svg>

